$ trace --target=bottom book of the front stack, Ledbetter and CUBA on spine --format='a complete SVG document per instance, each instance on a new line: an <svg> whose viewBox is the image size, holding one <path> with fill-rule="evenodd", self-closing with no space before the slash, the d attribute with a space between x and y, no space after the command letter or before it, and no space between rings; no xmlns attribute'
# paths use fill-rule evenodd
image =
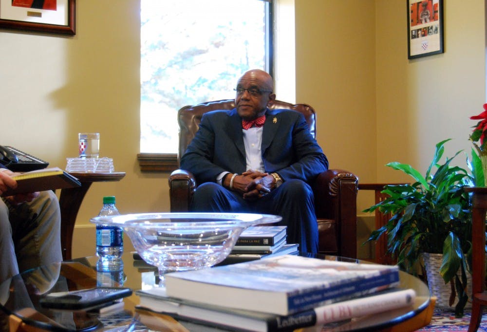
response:
<svg viewBox="0 0 487 332"><path fill-rule="evenodd" d="M168 314L177 320L223 327L230 330L257 332L292 331L309 326L321 326L364 315L411 306L416 293L412 289L390 289L359 298L320 306L296 314L280 316L256 311L211 306L199 302L165 296L157 289L136 291L140 296L138 308Z"/></svg>

